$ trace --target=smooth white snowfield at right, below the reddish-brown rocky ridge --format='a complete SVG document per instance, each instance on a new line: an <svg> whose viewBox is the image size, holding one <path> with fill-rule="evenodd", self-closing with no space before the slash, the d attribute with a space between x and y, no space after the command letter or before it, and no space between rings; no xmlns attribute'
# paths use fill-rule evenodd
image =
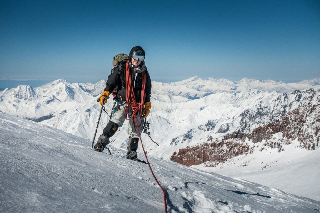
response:
<svg viewBox="0 0 320 213"><path fill-rule="evenodd" d="M264 147L263 142L251 155L238 156L217 167L192 166L232 178L249 180L269 187L276 187L320 201L320 149L299 148L299 142L284 145L280 153L276 148Z"/></svg>

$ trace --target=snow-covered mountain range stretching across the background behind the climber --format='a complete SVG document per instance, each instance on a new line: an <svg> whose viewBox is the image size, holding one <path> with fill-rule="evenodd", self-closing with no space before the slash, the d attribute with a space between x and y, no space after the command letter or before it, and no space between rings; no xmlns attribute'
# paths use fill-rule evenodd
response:
<svg viewBox="0 0 320 213"><path fill-rule="evenodd" d="M97 98L104 87L104 80L93 84L69 83L60 79L42 87L20 85L17 88L6 88L0 93L0 110L92 140L100 112ZM255 155L264 156L263 153L268 158L267 150L277 150L280 155L290 149L286 146L292 145L297 153L304 153L306 150L312 153L312 149L319 147L319 123L312 123L320 117L319 88L319 78L283 83L246 78L236 82L213 78L202 80L196 76L173 83L152 82L152 108L147 120L150 122L151 137L160 146L152 143L145 134L142 135L142 140L149 155L167 160L174 160L172 156L177 155L190 159L187 157L190 155L193 161L178 162L199 164L197 168L204 170L208 169L204 166L215 166L215 169L231 168L235 164L230 162L235 162L235 159L254 162L252 158L256 157ZM311 97L315 98L312 103L308 103ZM108 112L112 105L113 101L108 100ZM303 113L299 113L300 110ZM303 121L295 121L297 116ZM102 115L97 134L102 133L108 117L105 113ZM287 124L286 121L293 123ZM283 125L276 126L278 122ZM295 126L299 126L300 131L293 128ZM277 129L268 131L271 127ZM110 138L112 146L127 146L127 128L128 126L124 125ZM303 138L301 135L304 135ZM188 153L188 148L199 150L199 147L205 145L213 147L220 155L210 152L211 157L214 156L213 160L204 157L202 161L197 161L202 158L201 155L197 157ZM141 146L138 150L142 152ZM207 149L202 147L201 150ZM278 154L271 154L270 159L277 159ZM304 155L296 155L299 156ZM278 162L283 163L282 160ZM282 168L280 163L273 165ZM265 164L269 165L270 162L264 162L263 165ZM241 164L244 166L236 165L252 171L260 168L245 163ZM306 171L306 176L312 177L315 171L309 173ZM308 177L303 181L314 183ZM251 180L259 183L259 179ZM278 180L280 181L280 178ZM316 191L319 191L319 188L308 191L311 196L302 192L294 193L320 200L320 194Z"/></svg>

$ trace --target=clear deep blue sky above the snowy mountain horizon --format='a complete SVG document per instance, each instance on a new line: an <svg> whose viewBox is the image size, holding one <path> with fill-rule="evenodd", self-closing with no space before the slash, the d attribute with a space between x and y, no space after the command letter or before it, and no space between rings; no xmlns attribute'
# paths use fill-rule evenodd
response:
<svg viewBox="0 0 320 213"><path fill-rule="evenodd" d="M320 77L319 0L2 0L0 20L5 80L106 80L137 45L156 81Z"/></svg>

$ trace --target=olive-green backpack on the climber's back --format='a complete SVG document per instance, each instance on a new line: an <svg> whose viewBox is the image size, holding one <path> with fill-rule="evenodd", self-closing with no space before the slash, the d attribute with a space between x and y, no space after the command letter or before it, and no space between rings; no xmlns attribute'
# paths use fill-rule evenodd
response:
<svg viewBox="0 0 320 213"><path fill-rule="evenodd" d="M117 85L112 92L114 100L117 97L119 88L125 87L123 66L124 66L124 63L126 63L128 60L129 60L129 56L125 53L120 53L113 57L113 60L112 60L113 68L111 69L111 73L113 73L115 71L115 68L118 67L118 73L121 79L121 84Z"/></svg>

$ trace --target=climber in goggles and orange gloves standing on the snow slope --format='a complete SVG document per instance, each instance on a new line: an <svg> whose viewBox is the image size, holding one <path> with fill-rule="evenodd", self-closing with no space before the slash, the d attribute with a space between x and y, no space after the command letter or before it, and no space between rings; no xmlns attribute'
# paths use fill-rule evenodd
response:
<svg viewBox="0 0 320 213"><path fill-rule="evenodd" d="M122 68L119 68L119 66L115 67L114 71L109 75L104 92L100 95L100 105L102 106L107 102L109 95L117 86L119 101L116 103L112 118L104 128L103 134L99 136L97 144L94 146L95 151L103 152L103 149L110 143L109 138L123 125L126 118L130 118L132 114L135 114L136 119L133 118L129 120L129 144L126 158L146 163L143 160L139 160L137 156L139 134L138 128L136 127L138 126L139 132L142 133L142 118L146 118L149 115L151 108L151 79L144 62L145 55L145 51L140 46L132 48L129 53L129 61L122 62L122 64L119 65ZM122 71L119 71L119 69ZM130 79L131 82L129 82ZM132 88L126 88L130 87L128 85L132 85ZM127 98L130 99L129 101L134 99L131 102L138 103L138 105L139 103L144 103L142 112L133 112L133 104L129 105L130 103L127 103Z"/></svg>

